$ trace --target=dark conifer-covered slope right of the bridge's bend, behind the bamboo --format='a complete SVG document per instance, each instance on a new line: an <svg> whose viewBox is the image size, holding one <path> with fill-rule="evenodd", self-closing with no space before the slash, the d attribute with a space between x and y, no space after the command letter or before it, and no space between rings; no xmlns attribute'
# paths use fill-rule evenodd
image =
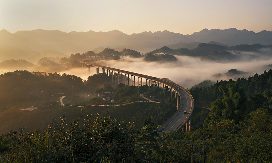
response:
<svg viewBox="0 0 272 163"><path fill-rule="evenodd" d="M190 93L194 97L195 103L201 106L210 106L212 101L215 101L217 97L223 97L224 92L222 91L223 87L227 87L228 84L238 83L239 86L242 86L244 93L251 97L254 94L264 95L269 98L271 95L267 94L270 90L272 91L272 69L269 71L263 72L261 75L255 74L249 78L238 78L236 81L230 79L228 81L220 81L211 85L211 87L198 87L190 90Z"/></svg>

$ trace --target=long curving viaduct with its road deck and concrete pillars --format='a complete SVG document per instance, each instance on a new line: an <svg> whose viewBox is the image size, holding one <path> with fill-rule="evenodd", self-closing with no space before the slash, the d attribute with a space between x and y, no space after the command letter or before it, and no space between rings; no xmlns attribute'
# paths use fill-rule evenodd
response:
<svg viewBox="0 0 272 163"><path fill-rule="evenodd" d="M194 99L192 95L189 93L187 89L184 87L170 82L168 80L164 80L161 78L156 78L154 76L148 76L144 74L139 74L135 72L130 72L130 71L125 71L125 70L120 70L117 68L111 68L107 66L102 66L98 64L92 64L89 62L82 62L80 61L80 65L82 68L88 68L90 72L90 67L96 67L96 73L99 73L99 68L102 68L102 72L106 73L107 70L107 75L110 74L110 72L113 74L113 86L117 85L118 83L122 83L122 73L125 74L125 85L130 85L129 84L129 75L131 75L131 85L135 85L135 76L138 77L138 86L143 85L143 78L146 80L146 84L148 84L147 81L149 81L149 86L151 81L155 83L155 87L159 87L159 84L162 85L163 91L170 91L171 92L171 101L173 98L173 93L175 93L175 97L178 99L177 103L177 111L170 117L164 124L161 126L164 127L165 131L174 131L174 130L180 130L180 131L190 131L191 130L191 125L192 125L192 112L194 109ZM134 80L133 80L134 78ZM141 83L140 83L140 78L141 78ZM157 85L156 85L157 83ZM187 113L185 114L184 111Z"/></svg>

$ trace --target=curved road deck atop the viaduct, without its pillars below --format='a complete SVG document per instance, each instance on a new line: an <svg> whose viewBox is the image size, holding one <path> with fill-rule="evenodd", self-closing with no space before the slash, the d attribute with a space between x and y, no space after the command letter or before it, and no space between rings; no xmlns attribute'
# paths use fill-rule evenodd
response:
<svg viewBox="0 0 272 163"><path fill-rule="evenodd" d="M98 65L98 64L92 64L92 63L88 63L88 62L80 62L80 63L86 64L88 66L91 65L96 68L99 68L99 67L105 68L107 70L117 71L117 72L121 72L124 74L129 74L129 75L149 79L149 80L155 81L157 83L161 83L163 85L166 85L169 88L173 89L174 91L176 91L178 93L178 97L181 97L180 101L178 102L178 104L180 104L180 105L178 105L178 109L177 109L176 113L174 115L172 115L172 117L170 117L162 125L162 127L164 127L165 131L183 130L185 126L186 126L186 129L185 129L186 131L190 130L189 126L191 125L190 119L191 119L192 112L194 109L194 99L187 89L183 88L182 86L180 86L176 83L173 83L168 80L161 79L161 78L156 78L153 76L148 76L148 75L139 74L139 73L135 73L135 72L120 70L117 68L111 68L111 67L102 66L102 65ZM187 111L187 113L184 114L184 111Z"/></svg>

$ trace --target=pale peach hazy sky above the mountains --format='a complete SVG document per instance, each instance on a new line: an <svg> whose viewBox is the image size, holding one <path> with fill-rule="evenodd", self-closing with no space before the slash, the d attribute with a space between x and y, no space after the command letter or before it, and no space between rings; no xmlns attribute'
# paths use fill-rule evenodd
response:
<svg viewBox="0 0 272 163"><path fill-rule="evenodd" d="M0 30L272 31L272 0L0 0Z"/></svg>

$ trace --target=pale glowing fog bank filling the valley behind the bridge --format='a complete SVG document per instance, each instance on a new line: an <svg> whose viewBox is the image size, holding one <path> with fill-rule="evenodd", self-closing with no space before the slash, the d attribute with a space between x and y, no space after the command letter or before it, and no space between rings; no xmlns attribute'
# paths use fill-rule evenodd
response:
<svg viewBox="0 0 272 163"><path fill-rule="evenodd" d="M270 60L252 60L250 62L232 62L232 63L216 63L201 61L198 58L188 57L188 56L176 56L178 58L177 62L145 62L143 58L130 58L123 57L121 60L107 60L96 62L97 64L118 68L121 70L127 70L131 72L137 72L141 74L146 74L150 76L155 76L158 78L169 78L175 83L190 89L192 86L204 81L212 80L229 80L232 78L235 80L238 77L248 78L249 75L252 76L255 73L263 73L263 66L272 63ZM220 77L213 76L214 74L224 74L228 70L236 68L237 70L250 72L247 76L226 76L222 75ZM76 68L72 70L65 71L65 73L80 76L82 79L87 80L88 76L96 73L96 68L90 68L90 72L85 68ZM100 72L102 69L100 68ZM63 73L63 72L60 72ZM145 80L143 79L143 83Z"/></svg>

